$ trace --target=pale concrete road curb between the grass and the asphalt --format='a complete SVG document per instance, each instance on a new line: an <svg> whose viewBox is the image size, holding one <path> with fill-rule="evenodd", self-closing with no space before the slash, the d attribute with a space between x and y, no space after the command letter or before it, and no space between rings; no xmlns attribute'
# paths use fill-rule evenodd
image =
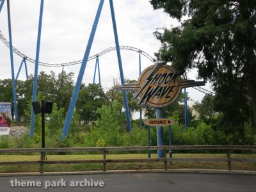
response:
<svg viewBox="0 0 256 192"><path fill-rule="evenodd" d="M109 173L212 173L212 174L236 174L236 175L256 175L256 171L247 170L205 170L205 169L172 169L172 170L109 170L88 171L88 172L29 172L29 173L0 173L0 177L19 177L19 176L47 176L47 175L95 175Z"/></svg>

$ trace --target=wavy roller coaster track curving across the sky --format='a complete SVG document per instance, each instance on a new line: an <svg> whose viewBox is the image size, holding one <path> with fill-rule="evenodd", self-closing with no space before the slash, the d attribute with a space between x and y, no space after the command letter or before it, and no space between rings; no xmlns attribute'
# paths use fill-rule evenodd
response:
<svg viewBox="0 0 256 192"><path fill-rule="evenodd" d="M6 45L10 49L10 42L6 39L6 37L3 35L1 30L0 30L0 40L4 43L4 45ZM140 52L143 56L148 58L148 60L152 61L153 63L156 63L156 60L154 58L152 58L152 56L147 54L147 52L142 51L141 49L138 49L136 47L120 46L120 49L128 50L128 51L134 51L134 52ZM99 53L97 53L93 56L90 56L88 58L88 61L94 60L95 58L97 58L99 56L102 56L102 55L104 55L108 52L111 52L111 51L116 51L116 47L109 47L108 49L104 49L103 51L100 51ZM15 47L13 47L13 52L15 52L15 54L17 54L21 58L25 58L27 61L29 61L31 63L35 63L34 59L29 58L28 56L26 56L26 54L20 52ZM70 66L70 65L78 65L78 64L82 63L82 61L83 60L77 60L77 61L71 61L71 62L68 62L68 63L44 63L44 62L39 62L39 65L42 65L42 66L45 66L45 67L63 67L63 66Z"/></svg>

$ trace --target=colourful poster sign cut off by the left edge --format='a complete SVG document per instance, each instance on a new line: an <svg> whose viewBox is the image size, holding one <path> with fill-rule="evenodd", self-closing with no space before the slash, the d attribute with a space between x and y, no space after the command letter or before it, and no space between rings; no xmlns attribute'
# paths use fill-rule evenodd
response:
<svg viewBox="0 0 256 192"><path fill-rule="evenodd" d="M10 133L11 116L12 116L12 103L0 102L0 135Z"/></svg>

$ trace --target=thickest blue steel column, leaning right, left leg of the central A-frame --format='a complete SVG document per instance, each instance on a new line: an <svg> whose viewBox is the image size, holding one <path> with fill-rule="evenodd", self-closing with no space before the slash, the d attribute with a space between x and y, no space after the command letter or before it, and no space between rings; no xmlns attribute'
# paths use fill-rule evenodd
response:
<svg viewBox="0 0 256 192"><path fill-rule="evenodd" d="M82 83L82 80L83 80L84 70L86 68L88 57L90 55L90 51L91 51L92 43L93 43L93 38L94 38L95 33L96 33L96 29L97 29L98 22L99 22L99 19L100 19L100 13L101 13L103 4L104 4L104 0L100 0L99 8L97 10L95 20L94 20L93 26L92 26L92 31L91 31L91 34L90 34L90 37L89 37L89 40L88 40L88 44L86 46L86 51L84 52L83 62L81 64L81 68L79 70L79 74L78 74L78 77L77 77L76 86L75 86L75 89L74 89L74 92L73 92L73 95L72 95L72 98L71 98L71 101L70 101L70 105L69 105L69 108L68 108L67 117L65 119L65 124L64 124L63 130L62 130L62 136L61 136L62 139L64 139L65 137L68 136L68 129L69 129L69 126L70 126L70 123L71 123L71 120L72 120L72 115L73 115L73 112L74 112L74 108L76 106L77 96L78 96L80 86L81 86L81 83Z"/></svg>

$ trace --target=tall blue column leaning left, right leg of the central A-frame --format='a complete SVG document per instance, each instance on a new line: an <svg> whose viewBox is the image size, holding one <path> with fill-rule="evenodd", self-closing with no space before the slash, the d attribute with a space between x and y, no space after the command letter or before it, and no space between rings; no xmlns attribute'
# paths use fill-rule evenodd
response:
<svg viewBox="0 0 256 192"><path fill-rule="evenodd" d="M112 23L113 23L113 30L114 30L114 35L115 35L116 54L117 54L117 58L118 58L121 83L125 84L121 52L120 52L120 46L119 46L119 40L118 40L118 33L117 33L117 28L116 28L116 18L115 18L115 10L114 10L114 5L113 5L113 0L109 0L109 4L110 4L111 17L112 17ZM129 110L129 106L128 106L127 93L125 91L123 91L123 95L124 95L124 104L125 104L125 114L126 114L126 118L127 118L127 127L128 127L128 132L130 132L132 130L132 125L131 125L131 117L130 117L130 112L129 112L130 110Z"/></svg>

